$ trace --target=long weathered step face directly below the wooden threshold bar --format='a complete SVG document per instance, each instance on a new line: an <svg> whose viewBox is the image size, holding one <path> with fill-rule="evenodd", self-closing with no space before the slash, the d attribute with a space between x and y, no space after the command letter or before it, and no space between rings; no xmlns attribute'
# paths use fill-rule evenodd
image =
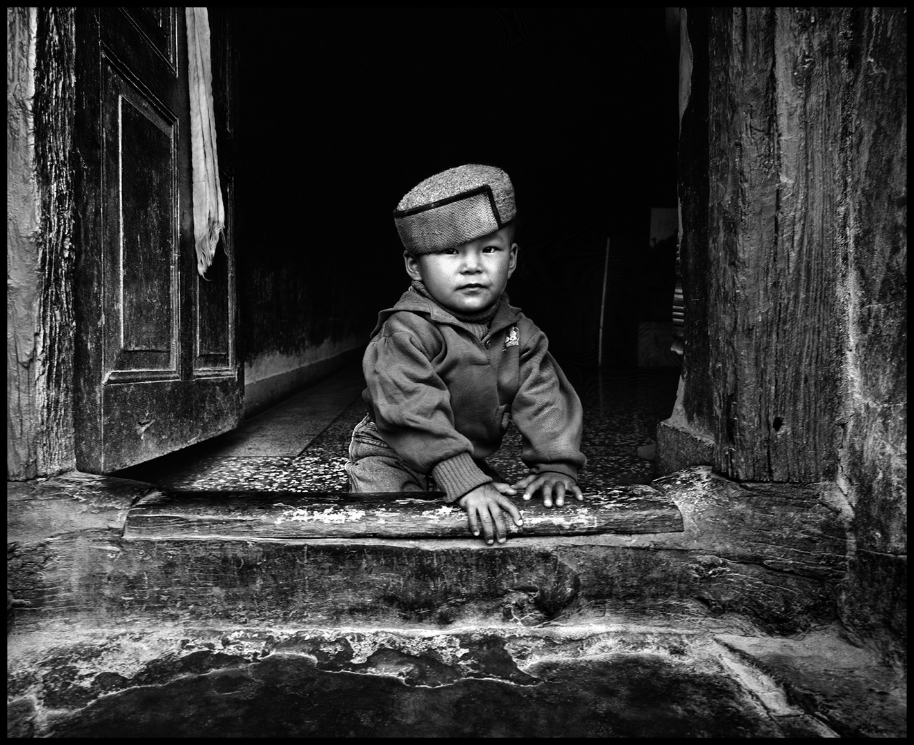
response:
<svg viewBox="0 0 914 745"><path fill-rule="evenodd" d="M832 581L600 539L126 539L94 547L80 597L45 613L79 603L109 621L430 628L649 616L774 634L834 620Z"/></svg>

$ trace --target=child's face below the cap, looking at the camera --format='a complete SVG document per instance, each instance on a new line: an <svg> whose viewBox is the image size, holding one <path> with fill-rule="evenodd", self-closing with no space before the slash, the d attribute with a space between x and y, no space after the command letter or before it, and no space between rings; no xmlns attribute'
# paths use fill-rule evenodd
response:
<svg viewBox="0 0 914 745"><path fill-rule="evenodd" d="M462 246L406 257L406 272L419 279L441 306L457 313L489 308L505 291L517 266L514 230L503 227Z"/></svg>

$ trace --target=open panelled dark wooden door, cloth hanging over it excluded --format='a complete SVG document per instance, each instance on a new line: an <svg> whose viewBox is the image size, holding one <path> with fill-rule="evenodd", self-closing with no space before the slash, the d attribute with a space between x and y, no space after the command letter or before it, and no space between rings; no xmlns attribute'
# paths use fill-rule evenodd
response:
<svg viewBox="0 0 914 745"><path fill-rule="evenodd" d="M225 20L220 16L220 21ZM239 425L231 67L214 26L226 236L197 274L183 8L77 15L77 467L108 473ZM217 77L218 76L218 77ZM219 140L221 138L221 140Z"/></svg>

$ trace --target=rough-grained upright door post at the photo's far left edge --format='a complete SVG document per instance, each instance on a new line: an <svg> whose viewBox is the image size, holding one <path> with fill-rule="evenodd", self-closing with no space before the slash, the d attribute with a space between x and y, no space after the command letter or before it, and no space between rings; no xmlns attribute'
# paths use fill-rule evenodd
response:
<svg viewBox="0 0 914 745"><path fill-rule="evenodd" d="M15 479L75 462L75 26L72 8L34 13L34 27L27 11L7 16L7 478Z"/></svg>

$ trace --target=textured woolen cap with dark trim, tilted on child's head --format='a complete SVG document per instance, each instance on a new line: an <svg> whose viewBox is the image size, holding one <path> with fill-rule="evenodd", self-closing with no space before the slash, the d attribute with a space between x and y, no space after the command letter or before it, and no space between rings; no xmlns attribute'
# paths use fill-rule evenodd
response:
<svg viewBox="0 0 914 745"><path fill-rule="evenodd" d="M430 254L488 236L516 216L514 186L492 165L468 163L436 173L414 187L394 210L410 254Z"/></svg>

